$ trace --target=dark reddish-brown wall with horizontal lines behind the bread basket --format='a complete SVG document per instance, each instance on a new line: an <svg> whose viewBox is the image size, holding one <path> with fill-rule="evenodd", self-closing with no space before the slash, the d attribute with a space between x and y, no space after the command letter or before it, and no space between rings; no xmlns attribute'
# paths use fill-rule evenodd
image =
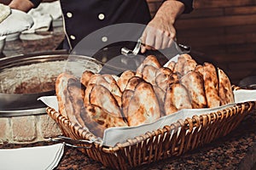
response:
<svg viewBox="0 0 256 170"><path fill-rule="evenodd" d="M160 2L148 0L152 15ZM177 41L224 69L234 84L256 75L256 1L195 0L194 8L177 20Z"/></svg>

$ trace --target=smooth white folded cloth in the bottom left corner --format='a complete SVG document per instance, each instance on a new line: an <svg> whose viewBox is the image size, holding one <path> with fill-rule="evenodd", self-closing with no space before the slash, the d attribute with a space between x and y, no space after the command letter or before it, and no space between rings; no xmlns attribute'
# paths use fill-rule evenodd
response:
<svg viewBox="0 0 256 170"><path fill-rule="evenodd" d="M0 150L1 169L54 169L64 152L64 144Z"/></svg>

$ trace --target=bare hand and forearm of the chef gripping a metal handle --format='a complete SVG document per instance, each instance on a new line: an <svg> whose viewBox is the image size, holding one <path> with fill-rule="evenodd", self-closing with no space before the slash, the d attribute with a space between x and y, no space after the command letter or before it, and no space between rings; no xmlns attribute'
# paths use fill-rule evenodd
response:
<svg viewBox="0 0 256 170"><path fill-rule="evenodd" d="M168 0L162 3L153 20L148 23L143 31L142 42L146 45L142 47L142 53L147 49L171 46L173 39L176 37L176 30L173 25L178 16L183 14L185 7L185 3L176 0Z"/></svg>

